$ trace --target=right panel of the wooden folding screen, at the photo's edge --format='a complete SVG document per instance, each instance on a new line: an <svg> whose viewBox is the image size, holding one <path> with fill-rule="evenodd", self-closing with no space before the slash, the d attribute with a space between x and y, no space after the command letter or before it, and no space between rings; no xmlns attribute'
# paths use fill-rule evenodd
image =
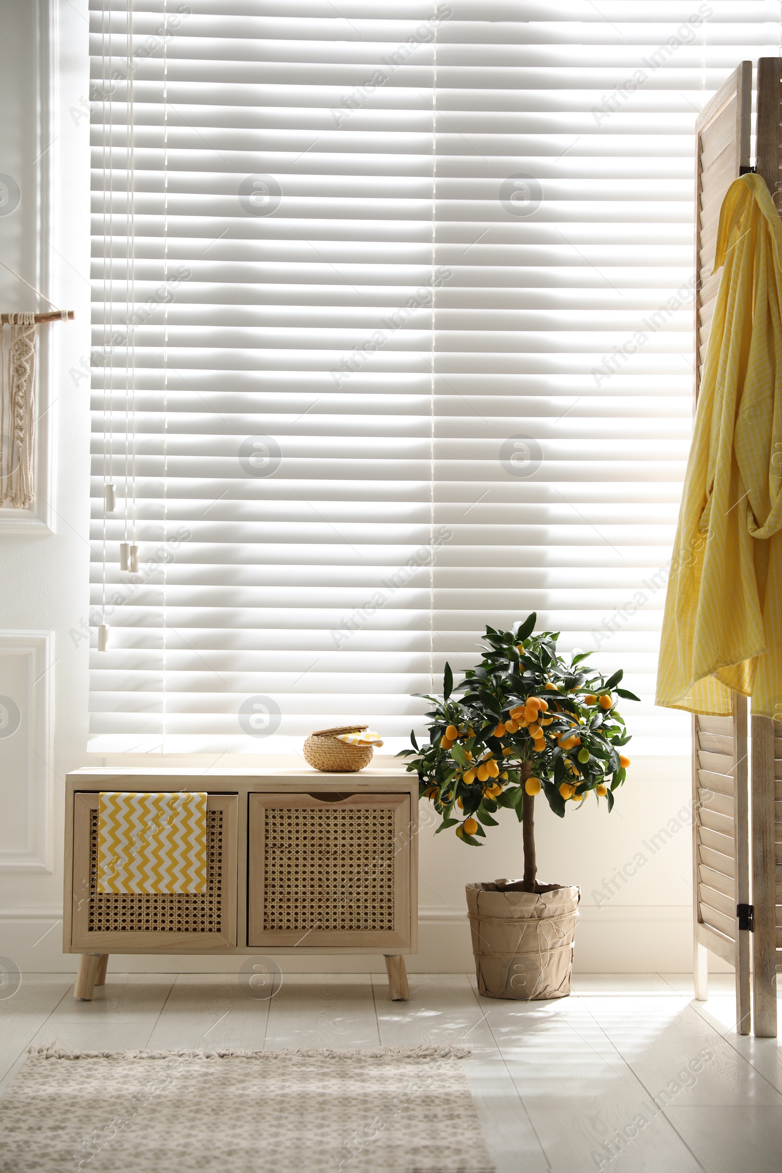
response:
<svg viewBox="0 0 782 1173"><path fill-rule="evenodd" d="M782 60L757 62L756 171L780 211ZM781 714L782 716L782 714ZM755 1035L776 1035L776 972L782 969L782 726L753 717L753 1003Z"/></svg>

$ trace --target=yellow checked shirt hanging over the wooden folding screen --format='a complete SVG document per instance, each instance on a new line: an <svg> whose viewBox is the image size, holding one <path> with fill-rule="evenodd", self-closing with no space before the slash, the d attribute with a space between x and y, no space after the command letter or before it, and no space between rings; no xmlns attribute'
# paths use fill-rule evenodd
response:
<svg viewBox="0 0 782 1173"><path fill-rule="evenodd" d="M782 716L782 226L744 175L720 210L723 265L662 621L657 704Z"/></svg>

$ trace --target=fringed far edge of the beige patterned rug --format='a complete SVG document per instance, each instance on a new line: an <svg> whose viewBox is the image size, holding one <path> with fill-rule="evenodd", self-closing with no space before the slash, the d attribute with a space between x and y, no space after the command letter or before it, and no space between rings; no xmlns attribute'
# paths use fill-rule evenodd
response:
<svg viewBox="0 0 782 1173"><path fill-rule="evenodd" d="M27 1052L35 1059L464 1059L471 1055L469 1046L375 1046L362 1050L311 1050L288 1047L281 1051L242 1051L237 1047L215 1047L182 1051L68 1051L56 1043L30 1046Z"/></svg>

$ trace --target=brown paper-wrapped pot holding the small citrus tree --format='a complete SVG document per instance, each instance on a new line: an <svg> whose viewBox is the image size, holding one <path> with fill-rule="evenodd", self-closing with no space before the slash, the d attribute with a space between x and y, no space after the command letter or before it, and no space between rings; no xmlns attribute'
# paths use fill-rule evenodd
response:
<svg viewBox="0 0 782 1173"><path fill-rule="evenodd" d="M523 1002L567 997L580 888L536 884L532 893L508 883L467 884L478 992Z"/></svg>

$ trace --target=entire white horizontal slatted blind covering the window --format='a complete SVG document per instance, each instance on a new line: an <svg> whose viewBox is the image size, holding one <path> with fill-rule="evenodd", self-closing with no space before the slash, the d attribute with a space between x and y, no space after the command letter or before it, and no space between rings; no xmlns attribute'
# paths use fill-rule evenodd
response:
<svg viewBox="0 0 782 1173"><path fill-rule="evenodd" d="M778 4L91 9L91 748L393 751L537 610L660 752L694 120Z"/></svg>

